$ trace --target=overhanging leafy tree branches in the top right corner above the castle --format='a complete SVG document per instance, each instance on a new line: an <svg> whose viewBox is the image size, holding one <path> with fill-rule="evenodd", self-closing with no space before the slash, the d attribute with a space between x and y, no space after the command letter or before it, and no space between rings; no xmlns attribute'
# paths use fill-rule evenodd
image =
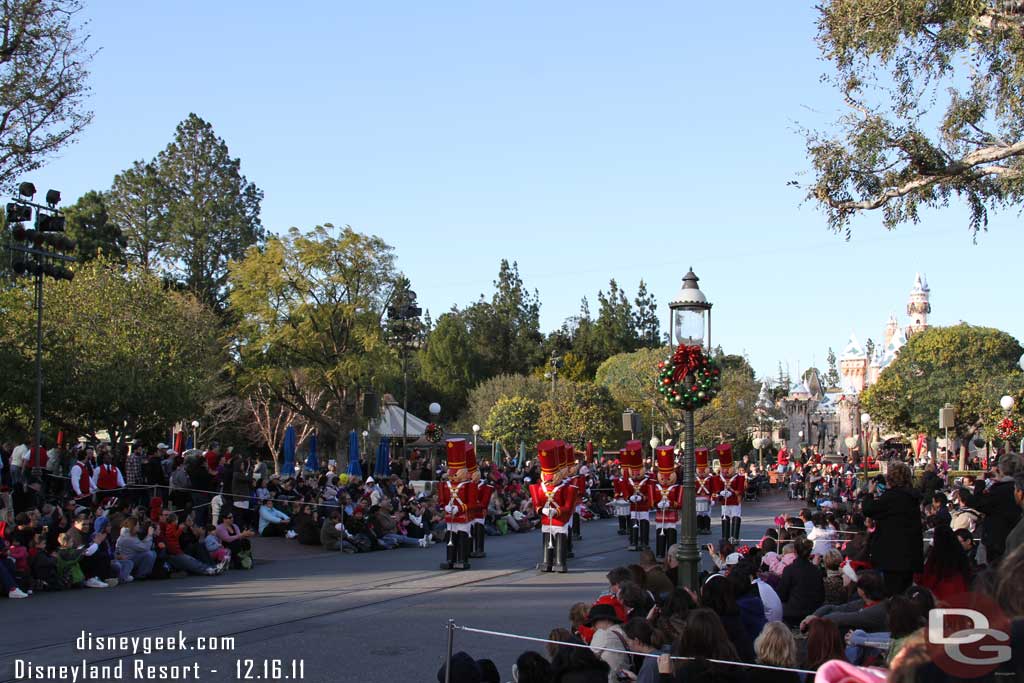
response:
<svg viewBox="0 0 1024 683"><path fill-rule="evenodd" d="M881 209L889 228L954 196L973 232L1024 188L1024 15L1015 2L827 0L817 42L850 113L809 132L808 198L849 234Z"/></svg>

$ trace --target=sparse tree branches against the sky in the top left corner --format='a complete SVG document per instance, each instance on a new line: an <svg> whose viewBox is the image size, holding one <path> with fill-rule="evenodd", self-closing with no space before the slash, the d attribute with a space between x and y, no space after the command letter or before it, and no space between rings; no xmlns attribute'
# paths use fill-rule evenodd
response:
<svg viewBox="0 0 1024 683"><path fill-rule="evenodd" d="M0 187L73 142L92 121L88 36L76 0L4 0L0 5Z"/></svg>

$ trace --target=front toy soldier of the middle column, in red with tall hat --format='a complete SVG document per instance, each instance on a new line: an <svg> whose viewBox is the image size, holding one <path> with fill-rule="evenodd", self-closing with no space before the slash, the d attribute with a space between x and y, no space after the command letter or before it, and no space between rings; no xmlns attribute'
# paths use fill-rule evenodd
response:
<svg viewBox="0 0 1024 683"><path fill-rule="evenodd" d="M562 481L562 442L537 445L541 480L529 485L534 508L541 514L541 571L568 571L569 524L575 509L575 488Z"/></svg>

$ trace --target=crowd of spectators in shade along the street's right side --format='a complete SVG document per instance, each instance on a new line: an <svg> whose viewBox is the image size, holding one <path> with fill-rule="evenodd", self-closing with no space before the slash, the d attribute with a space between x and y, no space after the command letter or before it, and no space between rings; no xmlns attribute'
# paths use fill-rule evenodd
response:
<svg viewBox="0 0 1024 683"><path fill-rule="evenodd" d="M607 573L594 602L566 605L566 627L545 651L523 652L512 680L965 680L936 661L925 634L930 610L968 591L1004 610L1013 652L969 679L1024 680L1024 463L1004 455L977 481L928 472L915 480L889 463L848 505L794 510L752 546L710 547L716 570L697 592L675 588L675 548L664 563L642 552ZM453 683L501 680L488 661L457 657Z"/></svg>

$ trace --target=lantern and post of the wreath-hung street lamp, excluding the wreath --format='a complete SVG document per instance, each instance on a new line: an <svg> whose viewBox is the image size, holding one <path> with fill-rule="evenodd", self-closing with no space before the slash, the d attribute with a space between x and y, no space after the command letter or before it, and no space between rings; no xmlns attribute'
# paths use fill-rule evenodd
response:
<svg viewBox="0 0 1024 683"><path fill-rule="evenodd" d="M675 344L711 349L711 307L690 268L679 294L669 303L669 330ZM707 334L706 334L707 332ZM696 470L694 462L693 411L684 411L686 440L683 450L683 526L679 544L679 583L697 590L700 553L697 550Z"/></svg>

